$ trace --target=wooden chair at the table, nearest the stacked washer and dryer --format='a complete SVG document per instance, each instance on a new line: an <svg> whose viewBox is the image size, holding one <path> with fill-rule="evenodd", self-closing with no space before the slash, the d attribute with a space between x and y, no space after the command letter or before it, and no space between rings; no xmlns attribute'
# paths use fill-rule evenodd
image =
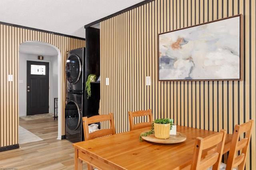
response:
<svg viewBox="0 0 256 170"><path fill-rule="evenodd" d="M108 135L116 134L115 125L114 125L114 116L113 113L109 113L108 115L95 115L92 117L83 117L83 127L84 127L84 140L95 139L98 137L104 137ZM98 123L102 121L109 121L109 129L99 129L92 133L89 133L88 125L92 123ZM88 164L88 170L94 170L93 166Z"/></svg>

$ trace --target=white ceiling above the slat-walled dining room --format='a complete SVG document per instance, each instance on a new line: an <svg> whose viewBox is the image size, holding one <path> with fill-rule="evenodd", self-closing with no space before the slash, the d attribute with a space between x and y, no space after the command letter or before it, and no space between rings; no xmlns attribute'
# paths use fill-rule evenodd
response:
<svg viewBox="0 0 256 170"><path fill-rule="evenodd" d="M84 25L144 0L0 0L0 21L85 38Z"/></svg>

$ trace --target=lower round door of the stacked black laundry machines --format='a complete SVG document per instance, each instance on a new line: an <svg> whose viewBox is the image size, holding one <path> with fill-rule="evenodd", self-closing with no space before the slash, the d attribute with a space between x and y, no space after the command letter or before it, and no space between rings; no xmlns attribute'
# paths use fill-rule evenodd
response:
<svg viewBox="0 0 256 170"><path fill-rule="evenodd" d="M76 102L71 100L68 102L65 109L66 126L71 131L75 131L79 127L80 121L81 121L80 108L78 104L76 104Z"/></svg>

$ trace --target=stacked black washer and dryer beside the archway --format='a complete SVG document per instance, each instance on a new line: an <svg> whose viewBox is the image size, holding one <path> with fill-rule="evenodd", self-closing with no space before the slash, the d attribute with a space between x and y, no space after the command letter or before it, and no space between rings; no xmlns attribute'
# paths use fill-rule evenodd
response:
<svg viewBox="0 0 256 170"><path fill-rule="evenodd" d="M82 141L84 56L85 48L74 49L66 61L66 139L73 143Z"/></svg>

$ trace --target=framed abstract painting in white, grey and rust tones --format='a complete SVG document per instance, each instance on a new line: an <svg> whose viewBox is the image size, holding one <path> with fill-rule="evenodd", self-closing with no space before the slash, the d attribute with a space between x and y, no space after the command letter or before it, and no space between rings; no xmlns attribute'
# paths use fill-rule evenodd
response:
<svg viewBox="0 0 256 170"><path fill-rule="evenodd" d="M241 80L242 14L158 34L158 80Z"/></svg>

